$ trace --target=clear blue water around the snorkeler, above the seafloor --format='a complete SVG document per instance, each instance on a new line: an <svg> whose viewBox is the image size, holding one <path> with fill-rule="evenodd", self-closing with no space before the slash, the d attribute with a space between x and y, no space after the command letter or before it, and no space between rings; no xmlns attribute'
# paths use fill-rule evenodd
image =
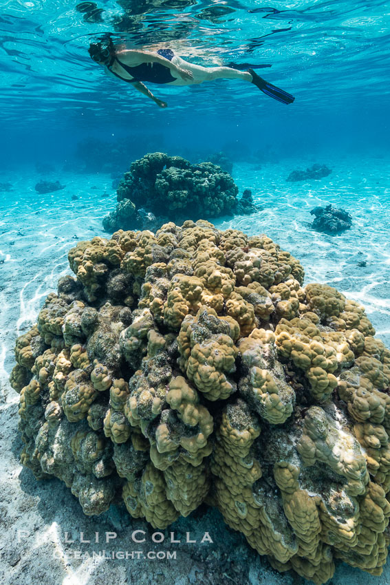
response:
<svg viewBox="0 0 390 585"><path fill-rule="evenodd" d="M74 0L1 6L3 164L27 160L32 151L34 158L69 156L89 134L115 139L156 131L176 150L234 142L238 151L270 145L281 156L387 151L386 1L110 0L97 3L101 22L89 22ZM250 84L215 81L155 87L169 103L160 111L91 61L89 42L105 32L129 47L173 47L205 66L270 63L264 76L296 101L283 107Z"/></svg>

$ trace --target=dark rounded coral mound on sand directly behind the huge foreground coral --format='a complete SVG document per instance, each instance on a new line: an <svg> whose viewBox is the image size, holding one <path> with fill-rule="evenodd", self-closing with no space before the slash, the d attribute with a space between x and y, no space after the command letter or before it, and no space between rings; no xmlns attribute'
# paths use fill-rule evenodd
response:
<svg viewBox="0 0 390 585"><path fill-rule="evenodd" d="M256 211L250 194L241 201L237 193L229 173L212 162L191 164L180 156L150 153L132 162L124 173L117 189L118 204L104 218L103 227L107 231L139 227L147 212L177 221Z"/></svg>

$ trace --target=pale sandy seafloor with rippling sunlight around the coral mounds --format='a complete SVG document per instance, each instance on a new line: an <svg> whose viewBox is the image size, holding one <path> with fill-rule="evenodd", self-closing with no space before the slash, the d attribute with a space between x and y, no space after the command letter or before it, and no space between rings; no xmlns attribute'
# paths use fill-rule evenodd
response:
<svg viewBox="0 0 390 585"><path fill-rule="evenodd" d="M365 305L377 335L390 345L390 162L384 158L324 159L332 174L319 181L285 182L295 168L316 160L284 163L235 164L233 176L240 193L252 189L263 209L246 217L219 218L218 228L239 228L252 235L267 233L301 260L305 284L318 281L335 286ZM109 175L59 171L62 191L39 195L34 185L42 177L32 169L3 173L13 190L0 193L0 404L1 503L0 582L30 584L193 583L216 585L290 585L304 579L273 571L239 533L228 529L217 511L177 520L164 531L181 544L155 545L153 530L133 520L124 509L111 509L97 518L83 515L78 500L59 480L36 482L19 464L21 440L17 434L19 396L8 383L17 334L30 328L45 296L55 290L60 275L70 273L67 251L78 240L102 231L102 216L115 204ZM78 200L72 200L77 195ZM354 224L343 235L330 237L310 228L310 209L332 203L353 215ZM210 218L205 218L210 220ZM367 266L358 266L367 262ZM131 542L132 530L147 531L147 542ZM18 542L18 530L26 530ZM117 533L105 545L95 543L96 531ZM213 544L200 544L204 531ZM65 542L65 532L74 544ZM91 544L80 544L80 532ZM197 543L186 544L186 532ZM148 536L149 535L149 536ZM141 551L139 560L76 559L77 551ZM148 560L148 551L177 551L176 560ZM381 577L338 564L332 585L388 585L390 562Z"/></svg>

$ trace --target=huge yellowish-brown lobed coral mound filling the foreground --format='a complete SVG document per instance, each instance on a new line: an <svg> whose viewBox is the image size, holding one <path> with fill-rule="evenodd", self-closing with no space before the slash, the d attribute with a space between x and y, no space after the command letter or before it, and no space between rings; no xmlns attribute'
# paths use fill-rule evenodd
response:
<svg viewBox="0 0 390 585"><path fill-rule="evenodd" d="M164 529L216 506L279 571L380 575L390 352L364 309L265 235L199 220L69 251L17 339L23 465Z"/></svg>

